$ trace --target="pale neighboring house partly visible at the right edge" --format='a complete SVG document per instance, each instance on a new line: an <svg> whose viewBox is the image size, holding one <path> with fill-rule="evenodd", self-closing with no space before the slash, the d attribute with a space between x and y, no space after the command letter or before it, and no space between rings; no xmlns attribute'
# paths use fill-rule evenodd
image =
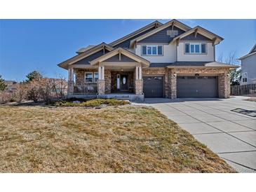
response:
<svg viewBox="0 0 256 192"><path fill-rule="evenodd" d="M241 85L256 83L256 44L241 60Z"/></svg>

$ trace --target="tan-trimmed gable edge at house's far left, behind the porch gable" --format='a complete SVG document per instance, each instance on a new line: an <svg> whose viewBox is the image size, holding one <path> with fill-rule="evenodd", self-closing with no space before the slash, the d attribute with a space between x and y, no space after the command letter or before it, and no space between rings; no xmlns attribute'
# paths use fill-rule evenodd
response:
<svg viewBox="0 0 256 192"><path fill-rule="evenodd" d="M114 50L114 48L112 48L112 46L109 46L107 43L100 43L97 46L94 46L93 48L90 48L88 50L86 50L83 53L80 53L79 55L76 55L68 60L65 60L65 62L61 62L60 64L58 64L59 67L62 67L64 69L67 69L69 64L73 64L74 62L78 62L79 60L82 60L85 57L88 57L89 55L92 55L93 53L96 53L99 50L102 50L103 48L106 48L107 50L111 51Z"/></svg>

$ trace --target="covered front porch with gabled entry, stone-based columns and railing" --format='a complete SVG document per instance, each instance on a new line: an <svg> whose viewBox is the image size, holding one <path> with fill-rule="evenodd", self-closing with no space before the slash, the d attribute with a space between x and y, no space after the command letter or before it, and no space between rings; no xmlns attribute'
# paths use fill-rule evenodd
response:
<svg viewBox="0 0 256 192"><path fill-rule="evenodd" d="M107 53L86 66L71 64L68 97L144 100L142 68L148 66L126 52Z"/></svg>

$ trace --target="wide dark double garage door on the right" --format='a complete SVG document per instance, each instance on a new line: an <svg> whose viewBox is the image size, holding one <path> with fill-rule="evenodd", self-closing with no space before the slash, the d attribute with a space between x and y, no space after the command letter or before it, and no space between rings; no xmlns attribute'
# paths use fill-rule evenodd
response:
<svg viewBox="0 0 256 192"><path fill-rule="evenodd" d="M177 76L177 97L218 97L217 76Z"/></svg>

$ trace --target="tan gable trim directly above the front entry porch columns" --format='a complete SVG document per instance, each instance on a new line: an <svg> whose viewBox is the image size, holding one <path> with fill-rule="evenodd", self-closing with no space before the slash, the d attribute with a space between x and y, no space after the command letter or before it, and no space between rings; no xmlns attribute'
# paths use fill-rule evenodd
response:
<svg viewBox="0 0 256 192"><path fill-rule="evenodd" d="M130 51L124 49L124 48L116 48L109 53L106 53L105 55L102 55L101 57L97 57L95 60L90 61L91 65L98 64L99 62L104 62L105 60L109 59L110 57L113 57L117 54L123 54L126 55L126 57L130 57L131 59L135 60L136 62L140 62L144 64L144 66L149 67L150 62L148 60L145 60L144 58L135 55L134 53L131 53Z"/></svg>

